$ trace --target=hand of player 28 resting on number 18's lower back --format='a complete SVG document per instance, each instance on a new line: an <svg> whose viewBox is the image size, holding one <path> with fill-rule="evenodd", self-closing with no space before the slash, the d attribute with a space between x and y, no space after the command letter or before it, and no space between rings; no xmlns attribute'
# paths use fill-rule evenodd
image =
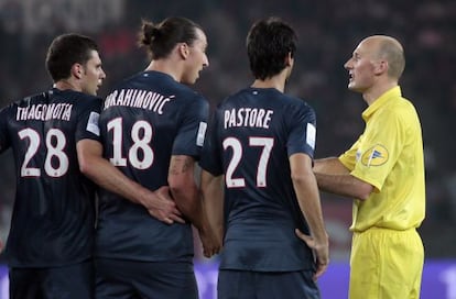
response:
<svg viewBox="0 0 456 299"><path fill-rule="evenodd" d="M153 197L145 204L145 209L148 209L149 214L166 224L185 223L181 211L170 196L170 187L167 186L162 186L153 192Z"/></svg>

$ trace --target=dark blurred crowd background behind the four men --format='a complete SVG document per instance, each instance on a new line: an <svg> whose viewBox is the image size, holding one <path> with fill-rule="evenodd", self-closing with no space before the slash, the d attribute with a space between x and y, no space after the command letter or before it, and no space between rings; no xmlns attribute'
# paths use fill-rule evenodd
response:
<svg viewBox="0 0 456 299"><path fill-rule="evenodd" d="M286 91L317 113L316 157L339 155L363 130L366 103L347 90L344 63L371 34L399 38L405 49L403 95L422 121L426 165L426 219L420 229L428 258L456 257L456 1L421 0L0 0L0 107L51 87L44 67L57 34L78 32L100 45L107 79L115 82L146 67L137 47L141 19L180 15L199 23L208 37L209 67L195 89L214 108L249 86L245 40L256 20L276 15L300 37ZM0 237L6 240L14 197L11 151L0 155ZM348 258L351 200L322 193L333 259ZM196 242L197 243L197 242ZM198 245L198 244L196 244Z"/></svg>

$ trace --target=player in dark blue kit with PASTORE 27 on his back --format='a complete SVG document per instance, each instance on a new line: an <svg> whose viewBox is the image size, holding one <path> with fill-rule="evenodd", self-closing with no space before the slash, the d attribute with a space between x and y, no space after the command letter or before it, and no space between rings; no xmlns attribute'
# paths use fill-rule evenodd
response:
<svg viewBox="0 0 456 299"><path fill-rule="evenodd" d="M254 81L218 106L204 145L204 202L218 239L225 234L219 299L319 298L315 279L329 258L312 171L316 118L284 93L295 52L295 32L280 19L253 24Z"/></svg>

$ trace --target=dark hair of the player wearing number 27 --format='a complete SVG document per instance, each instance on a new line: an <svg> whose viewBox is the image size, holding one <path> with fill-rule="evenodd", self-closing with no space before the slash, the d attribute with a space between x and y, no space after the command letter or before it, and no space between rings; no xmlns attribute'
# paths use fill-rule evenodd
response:
<svg viewBox="0 0 456 299"><path fill-rule="evenodd" d="M282 71L285 57L296 51L294 30L279 18L256 22L247 35L250 69L257 79L267 79Z"/></svg>

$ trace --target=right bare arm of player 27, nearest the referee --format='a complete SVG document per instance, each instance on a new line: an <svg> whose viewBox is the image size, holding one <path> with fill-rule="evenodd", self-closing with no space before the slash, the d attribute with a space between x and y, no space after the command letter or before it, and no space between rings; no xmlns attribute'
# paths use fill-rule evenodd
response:
<svg viewBox="0 0 456 299"><path fill-rule="evenodd" d="M296 234L314 250L317 264L315 278L318 278L329 263L329 241L323 222L317 182L312 171L312 159L306 154L294 154L290 156L290 168L297 201L312 235L305 236L298 234L298 231Z"/></svg>

